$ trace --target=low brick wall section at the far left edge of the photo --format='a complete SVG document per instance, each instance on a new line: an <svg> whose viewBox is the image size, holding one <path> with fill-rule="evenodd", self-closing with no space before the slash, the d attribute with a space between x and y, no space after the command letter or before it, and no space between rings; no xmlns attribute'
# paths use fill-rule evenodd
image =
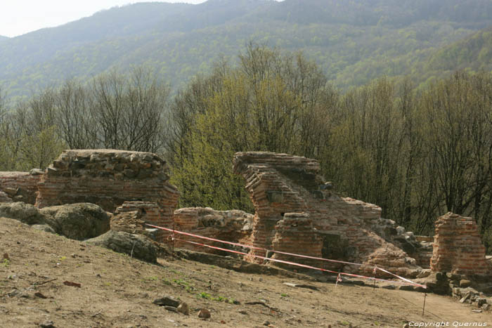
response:
<svg viewBox="0 0 492 328"><path fill-rule="evenodd" d="M0 202L25 202L34 204L39 170L31 172L0 172Z"/></svg>

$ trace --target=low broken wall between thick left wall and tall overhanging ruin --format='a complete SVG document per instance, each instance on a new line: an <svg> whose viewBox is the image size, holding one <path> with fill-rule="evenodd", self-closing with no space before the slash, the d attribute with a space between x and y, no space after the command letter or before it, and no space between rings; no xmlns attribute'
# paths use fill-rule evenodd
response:
<svg viewBox="0 0 492 328"><path fill-rule="evenodd" d="M254 216L245 211L216 211L209 207L188 207L174 211L174 222L176 230L191 232L196 235L212 237L228 242L239 242L241 244L250 244L252 232L252 221ZM192 242L203 242L203 240L186 237L186 240ZM229 247L226 244L207 242L213 246L222 248ZM175 241L176 247L203 251L209 254L222 254L223 251L201 247L186 242ZM249 251L248 249L235 248L240 251Z"/></svg>

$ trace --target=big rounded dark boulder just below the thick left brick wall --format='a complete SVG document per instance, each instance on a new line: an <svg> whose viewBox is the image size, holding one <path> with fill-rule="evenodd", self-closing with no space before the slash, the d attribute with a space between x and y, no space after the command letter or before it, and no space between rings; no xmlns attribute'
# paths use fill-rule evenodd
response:
<svg viewBox="0 0 492 328"><path fill-rule="evenodd" d="M50 225L56 232L73 240L86 240L110 230L108 214L96 204L50 206L40 212L51 216Z"/></svg>

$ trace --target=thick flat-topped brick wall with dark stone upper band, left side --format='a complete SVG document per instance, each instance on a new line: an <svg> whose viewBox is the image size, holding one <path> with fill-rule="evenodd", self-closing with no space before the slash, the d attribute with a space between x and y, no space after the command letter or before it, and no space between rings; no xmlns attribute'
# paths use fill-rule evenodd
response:
<svg viewBox="0 0 492 328"><path fill-rule="evenodd" d="M38 184L37 206L89 202L115 211L126 201L155 202L171 218L179 192L166 162L150 152L65 150Z"/></svg>

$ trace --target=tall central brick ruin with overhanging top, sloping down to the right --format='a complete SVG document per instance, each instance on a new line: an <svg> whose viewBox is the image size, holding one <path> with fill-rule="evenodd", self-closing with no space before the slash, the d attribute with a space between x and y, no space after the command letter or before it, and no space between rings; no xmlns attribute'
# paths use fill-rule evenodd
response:
<svg viewBox="0 0 492 328"><path fill-rule="evenodd" d="M381 218L381 208L323 190L321 186L325 181L319 175L320 165L315 159L272 152L238 152L234 157L234 171L245 178L246 190L254 204L252 244L255 247L276 250L279 246L274 242L277 223L287 213L305 213L309 214L313 228L323 241L324 258L364 264L345 268L335 264L318 265L366 274L372 274L373 265L380 265L408 277L417 274L415 258L371 229ZM300 234L297 240L295 238L292 234L292 244L305 242ZM311 256L319 255L317 247L304 251L309 251ZM259 250L250 254L265 256L265 252ZM257 261L251 256L247 259Z"/></svg>

